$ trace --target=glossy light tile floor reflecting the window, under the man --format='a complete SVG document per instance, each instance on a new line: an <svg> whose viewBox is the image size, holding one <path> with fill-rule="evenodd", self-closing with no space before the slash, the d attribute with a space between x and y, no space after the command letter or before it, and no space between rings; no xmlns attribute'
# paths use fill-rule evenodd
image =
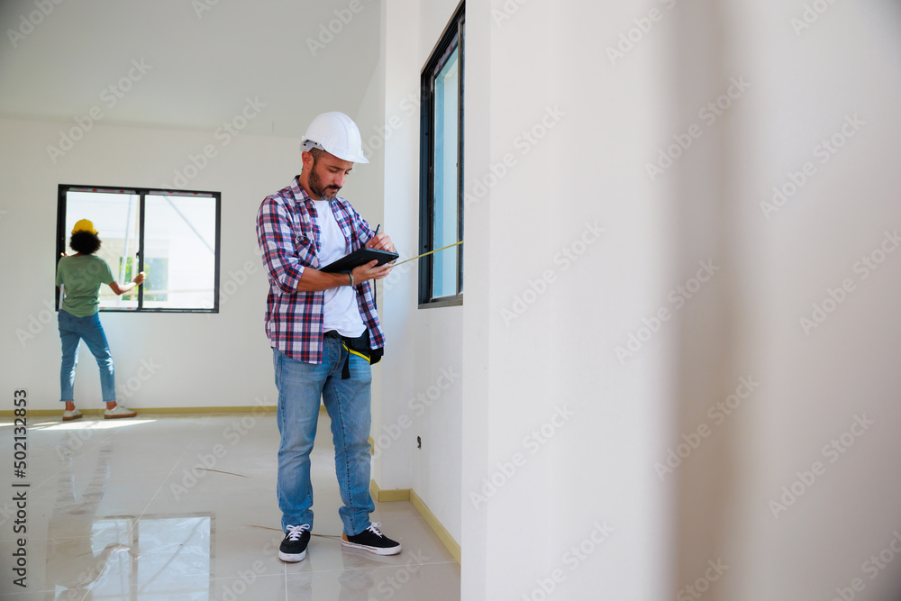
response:
<svg viewBox="0 0 901 601"><path fill-rule="evenodd" d="M278 560L274 414L29 418L28 488L0 420L0 598L14 601L459 601L460 567L408 502L371 515L404 545L344 550L328 417L313 451L314 537ZM15 492L26 490L27 589L13 584Z"/></svg>

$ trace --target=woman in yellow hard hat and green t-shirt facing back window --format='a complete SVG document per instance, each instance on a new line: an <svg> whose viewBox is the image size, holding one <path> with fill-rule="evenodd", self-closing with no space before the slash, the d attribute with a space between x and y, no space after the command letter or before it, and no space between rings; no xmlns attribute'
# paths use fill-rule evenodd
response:
<svg viewBox="0 0 901 601"><path fill-rule="evenodd" d="M62 394L59 400L66 404L66 410L62 414L65 422L82 416L75 406L74 397L75 366L80 341L85 341L100 368L100 387L106 403L105 419L135 415L131 409L116 405L113 356L97 311L100 306L101 284L108 285L115 294L121 295L140 286L146 276L141 271L128 284L120 285L116 282L109 264L94 254L100 250L101 244L97 233L94 223L87 219L77 222L72 228L72 238L69 241L69 246L76 254L64 255L57 265L56 285L62 286L64 293L59 309L59 338L62 339L62 367L59 371Z"/></svg>

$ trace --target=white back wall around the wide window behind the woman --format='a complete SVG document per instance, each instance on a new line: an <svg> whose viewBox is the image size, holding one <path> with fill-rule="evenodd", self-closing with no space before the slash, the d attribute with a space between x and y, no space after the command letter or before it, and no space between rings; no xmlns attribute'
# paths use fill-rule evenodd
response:
<svg viewBox="0 0 901 601"><path fill-rule="evenodd" d="M235 110L241 111L241 103ZM59 333L56 314L47 308L54 294L58 185L175 187L175 169L183 170L191 164L189 155L213 144L214 159L177 187L222 192L220 313L103 314L116 384L125 387L119 398L137 409L248 406L257 399L275 405L263 330L267 283L254 224L263 197L287 186L299 172L300 132L297 138L239 134L224 143L213 132L95 125L53 164L45 147L73 125L0 121L5 142L0 231L7 256L0 316L3 386L27 388L32 409L59 409ZM379 214L380 198L363 192L351 180L341 194L362 214ZM84 348L76 401L84 408L101 405L96 363Z"/></svg>

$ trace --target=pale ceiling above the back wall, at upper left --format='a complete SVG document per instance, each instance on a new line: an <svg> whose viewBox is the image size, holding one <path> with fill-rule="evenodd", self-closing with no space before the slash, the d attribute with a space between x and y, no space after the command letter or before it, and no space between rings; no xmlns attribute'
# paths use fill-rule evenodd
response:
<svg viewBox="0 0 901 601"><path fill-rule="evenodd" d="M242 132L297 137L316 114L358 112L380 13L380 0L0 0L0 117L93 110L214 132L250 99L265 106Z"/></svg>

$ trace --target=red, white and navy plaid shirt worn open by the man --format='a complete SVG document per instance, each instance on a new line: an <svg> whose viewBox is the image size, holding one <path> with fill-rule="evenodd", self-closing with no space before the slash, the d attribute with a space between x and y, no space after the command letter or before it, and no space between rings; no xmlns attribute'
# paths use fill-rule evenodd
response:
<svg viewBox="0 0 901 601"><path fill-rule="evenodd" d="M350 250L357 250L373 236L369 223L350 203L337 196L331 203ZM323 361L323 305L325 294L298 292L304 269L318 268L322 250L316 208L297 178L291 185L267 196L257 213L257 241L269 278L266 298L266 335L274 349L305 363ZM378 323L370 282L354 287L359 314L369 330L369 346L385 346Z"/></svg>

